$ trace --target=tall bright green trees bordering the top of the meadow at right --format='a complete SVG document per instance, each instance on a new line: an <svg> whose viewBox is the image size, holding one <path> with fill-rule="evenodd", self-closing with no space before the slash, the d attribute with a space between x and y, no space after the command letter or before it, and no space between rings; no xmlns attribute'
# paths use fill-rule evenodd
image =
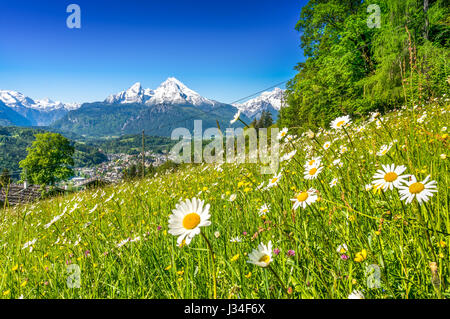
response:
<svg viewBox="0 0 450 319"><path fill-rule="evenodd" d="M306 61L287 85L279 124L327 126L336 116L386 111L449 93L448 1L381 0L380 28L369 28L372 1L311 0L296 29Z"/></svg>

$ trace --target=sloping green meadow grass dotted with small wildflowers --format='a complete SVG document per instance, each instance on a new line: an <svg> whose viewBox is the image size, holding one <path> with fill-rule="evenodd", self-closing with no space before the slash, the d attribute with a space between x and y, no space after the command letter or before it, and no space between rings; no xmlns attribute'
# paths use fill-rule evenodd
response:
<svg viewBox="0 0 450 319"><path fill-rule="evenodd" d="M418 123L425 110L427 117ZM198 197L211 205L212 224L202 231L215 253L218 298L347 298L353 290L366 298L448 298L449 173L448 159L440 157L448 154L448 135L442 131L448 111L439 100L392 112L379 129L371 122L357 132L362 123L353 123L349 136L330 130L283 143L285 152L295 148L297 154L281 164L282 178L268 190L257 189L271 176L261 175L256 164L223 164L222 171L202 164L6 209L0 224L0 297L211 298L213 271L205 240L196 236L180 248L168 234L175 205ZM333 140L327 150L320 146ZM385 156L376 155L391 142ZM348 147L342 155L341 145ZM303 164L318 155L324 170L305 180ZM338 157L341 168L332 164ZM405 174L419 180L431 175L438 192L419 206L415 200L400 201L396 189L366 191L381 164L392 163L405 165ZM335 177L339 182L330 187ZM319 191L320 201L293 211L290 199L310 187ZM237 195L234 201L231 194ZM264 203L271 205L265 218L258 215ZM235 236L242 241L230 242ZM22 249L34 239L31 252ZM280 249L271 267L290 293L268 268L247 263L247 254L269 240ZM344 243L347 260L336 251ZM356 262L363 249L367 258ZM288 257L288 250L295 256ZM437 263L434 277L430 262ZM80 267L80 288L68 288L67 264ZM380 269L379 288L367 286L369 265Z"/></svg>

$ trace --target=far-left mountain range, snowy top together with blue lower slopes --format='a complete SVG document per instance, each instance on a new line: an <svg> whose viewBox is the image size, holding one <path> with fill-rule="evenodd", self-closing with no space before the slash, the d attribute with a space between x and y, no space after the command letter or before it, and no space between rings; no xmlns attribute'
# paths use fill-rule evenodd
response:
<svg viewBox="0 0 450 319"><path fill-rule="evenodd" d="M45 126L63 117L67 112L80 107L80 104L65 104L50 99L33 100L20 92L0 90L0 101L29 121L30 125ZM10 121L11 122L11 121ZM12 123L20 125L19 123Z"/></svg>

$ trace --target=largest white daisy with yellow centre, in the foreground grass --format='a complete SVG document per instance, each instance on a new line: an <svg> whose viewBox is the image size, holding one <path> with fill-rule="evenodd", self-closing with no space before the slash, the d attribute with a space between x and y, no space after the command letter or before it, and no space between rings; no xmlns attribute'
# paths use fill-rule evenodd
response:
<svg viewBox="0 0 450 319"><path fill-rule="evenodd" d="M193 198L176 204L169 217L169 234L179 236L178 245L186 240L189 245L195 235L200 234L200 227L209 226L209 204L204 206L204 201Z"/></svg>

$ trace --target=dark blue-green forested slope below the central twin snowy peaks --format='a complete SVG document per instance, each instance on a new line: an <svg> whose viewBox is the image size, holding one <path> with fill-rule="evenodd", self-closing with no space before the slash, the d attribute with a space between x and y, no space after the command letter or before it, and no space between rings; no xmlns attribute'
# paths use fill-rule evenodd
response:
<svg viewBox="0 0 450 319"><path fill-rule="evenodd" d="M194 128L194 119L202 120L203 127L230 127L229 120L233 118L236 109L223 104L217 109L203 111L191 105L155 105L145 104L110 104L86 103L79 109L69 112L52 127L62 131L75 132L89 137L120 136L137 134L145 130L150 135L169 136L178 127L189 130ZM250 120L242 116L243 120ZM233 127L242 126L237 122Z"/></svg>

